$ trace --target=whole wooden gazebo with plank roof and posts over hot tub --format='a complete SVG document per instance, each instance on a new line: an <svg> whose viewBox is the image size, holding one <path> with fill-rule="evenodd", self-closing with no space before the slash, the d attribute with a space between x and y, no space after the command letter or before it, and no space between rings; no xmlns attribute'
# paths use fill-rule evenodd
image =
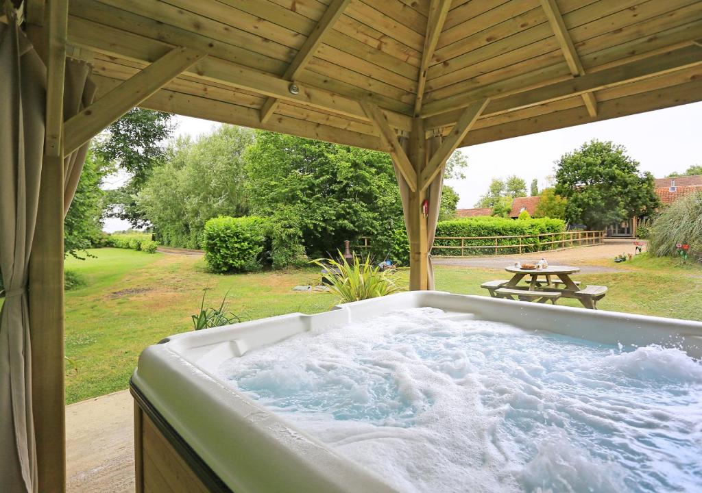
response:
<svg viewBox="0 0 702 493"><path fill-rule="evenodd" d="M65 485L64 156L132 107L387 151L411 288L427 289L457 147L702 100L701 0L12 3L4 22L20 23L47 67L34 81L46 140L28 281L40 492ZM67 60L88 64L96 89L69 117Z"/></svg>

